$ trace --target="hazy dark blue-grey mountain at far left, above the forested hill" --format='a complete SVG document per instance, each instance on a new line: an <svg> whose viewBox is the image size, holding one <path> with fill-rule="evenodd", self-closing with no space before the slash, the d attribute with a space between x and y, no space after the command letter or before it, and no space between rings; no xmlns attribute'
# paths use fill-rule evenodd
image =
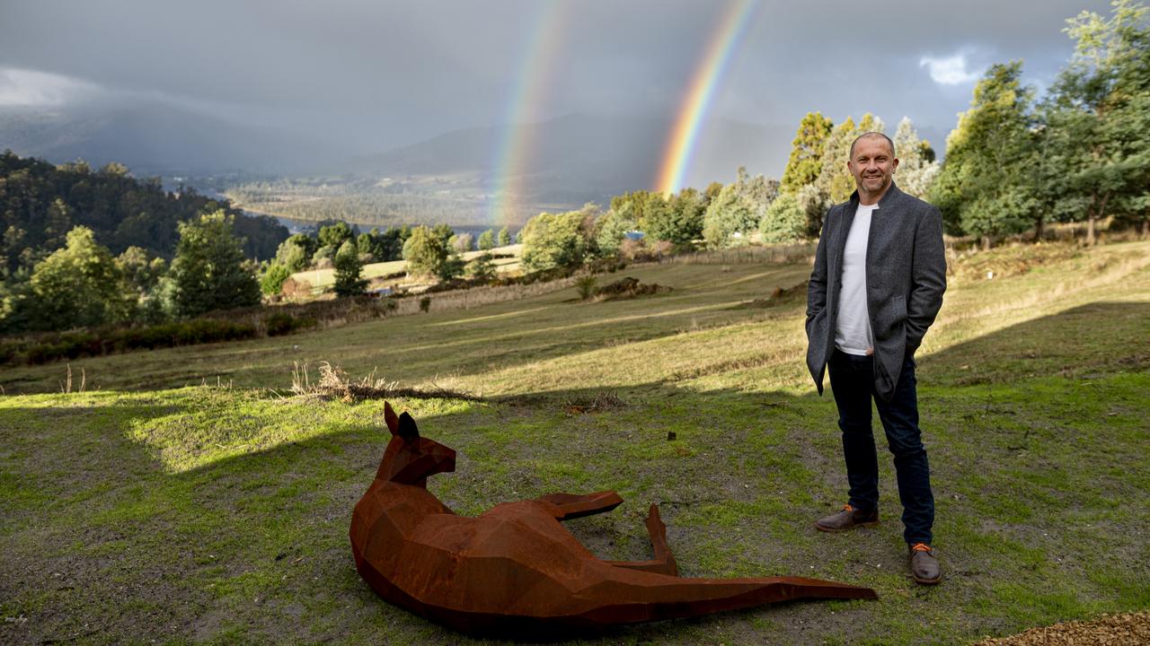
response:
<svg viewBox="0 0 1150 646"><path fill-rule="evenodd" d="M322 145L167 102L0 110L0 149L52 162L121 162L137 176L291 174L338 159Z"/></svg>

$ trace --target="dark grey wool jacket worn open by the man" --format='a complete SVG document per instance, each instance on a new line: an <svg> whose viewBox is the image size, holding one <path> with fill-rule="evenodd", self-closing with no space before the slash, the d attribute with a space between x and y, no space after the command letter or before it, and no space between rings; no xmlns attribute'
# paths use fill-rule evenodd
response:
<svg viewBox="0 0 1150 646"><path fill-rule="evenodd" d="M822 375L835 348L835 321L842 287L843 248L858 208L850 201L830 207L822 223L814 270L806 294L806 366L822 394ZM866 303L874 333L875 392L890 400L903 370L934 323L946 290L942 215L934 206L894 183L871 216L866 251Z"/></svg>

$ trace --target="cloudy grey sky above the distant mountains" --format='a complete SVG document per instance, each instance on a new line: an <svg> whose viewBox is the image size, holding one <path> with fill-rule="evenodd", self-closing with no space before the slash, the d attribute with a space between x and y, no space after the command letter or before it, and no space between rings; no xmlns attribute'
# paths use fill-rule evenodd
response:
<svg viewBox="0 0 1150 646"><path fill-rule="evenodd" d="M168 101L369 154L565 114L674 118L750 0L0 0L0 107ZM980 74L1040 91L1105 0L761 0L700 109L797 125L866 111L949 131Z"/></svg>

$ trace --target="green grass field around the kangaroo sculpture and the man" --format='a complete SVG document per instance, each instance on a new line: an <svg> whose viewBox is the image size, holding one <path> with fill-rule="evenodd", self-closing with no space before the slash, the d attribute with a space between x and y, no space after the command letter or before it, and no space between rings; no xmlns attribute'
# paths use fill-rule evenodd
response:
<svg viewBox="0 0 1150 646"><path fill-rule="evenodd" d="M314 379L324 361L483 397L392 401L459 451L429 489L461 514L615 489L620 508L568 524L601 557L649 557L658 502L684 576L880 595L589 643L969 644L1150 608L1150 243L1007 248L953 269L918 356L938 586L906 576L889 459L882 524L812 526L844 501L845 475L834 402L805 374L805 298L745 306L808 267L644 266L601 280L673 291L581 302L572 289L75 361L83 393L60 392L64 364L0 372L0 641L467 641L355 574L346 532L388 437L383 402L290 397L293 367ZM605 393L623 405L573 407Z"/></svg>

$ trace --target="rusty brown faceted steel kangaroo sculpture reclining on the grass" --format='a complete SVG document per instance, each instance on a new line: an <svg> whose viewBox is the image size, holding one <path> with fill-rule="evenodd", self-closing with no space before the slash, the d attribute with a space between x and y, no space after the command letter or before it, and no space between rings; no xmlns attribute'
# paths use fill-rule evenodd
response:
<svg viewBox="0 0 1150 646"><path fill-rule="evenodd" d="M597 559L559 521L614 509L622 499L613 491L458 516L427 491L428 476L455 469L455 452L421 438L407 413L385 405L385 417L391 441L352 514L355 568L391 603L461 632L555 638L795 599L876 599L867 587L802 577L681 578L654 505L654 559Z"/></svg>

